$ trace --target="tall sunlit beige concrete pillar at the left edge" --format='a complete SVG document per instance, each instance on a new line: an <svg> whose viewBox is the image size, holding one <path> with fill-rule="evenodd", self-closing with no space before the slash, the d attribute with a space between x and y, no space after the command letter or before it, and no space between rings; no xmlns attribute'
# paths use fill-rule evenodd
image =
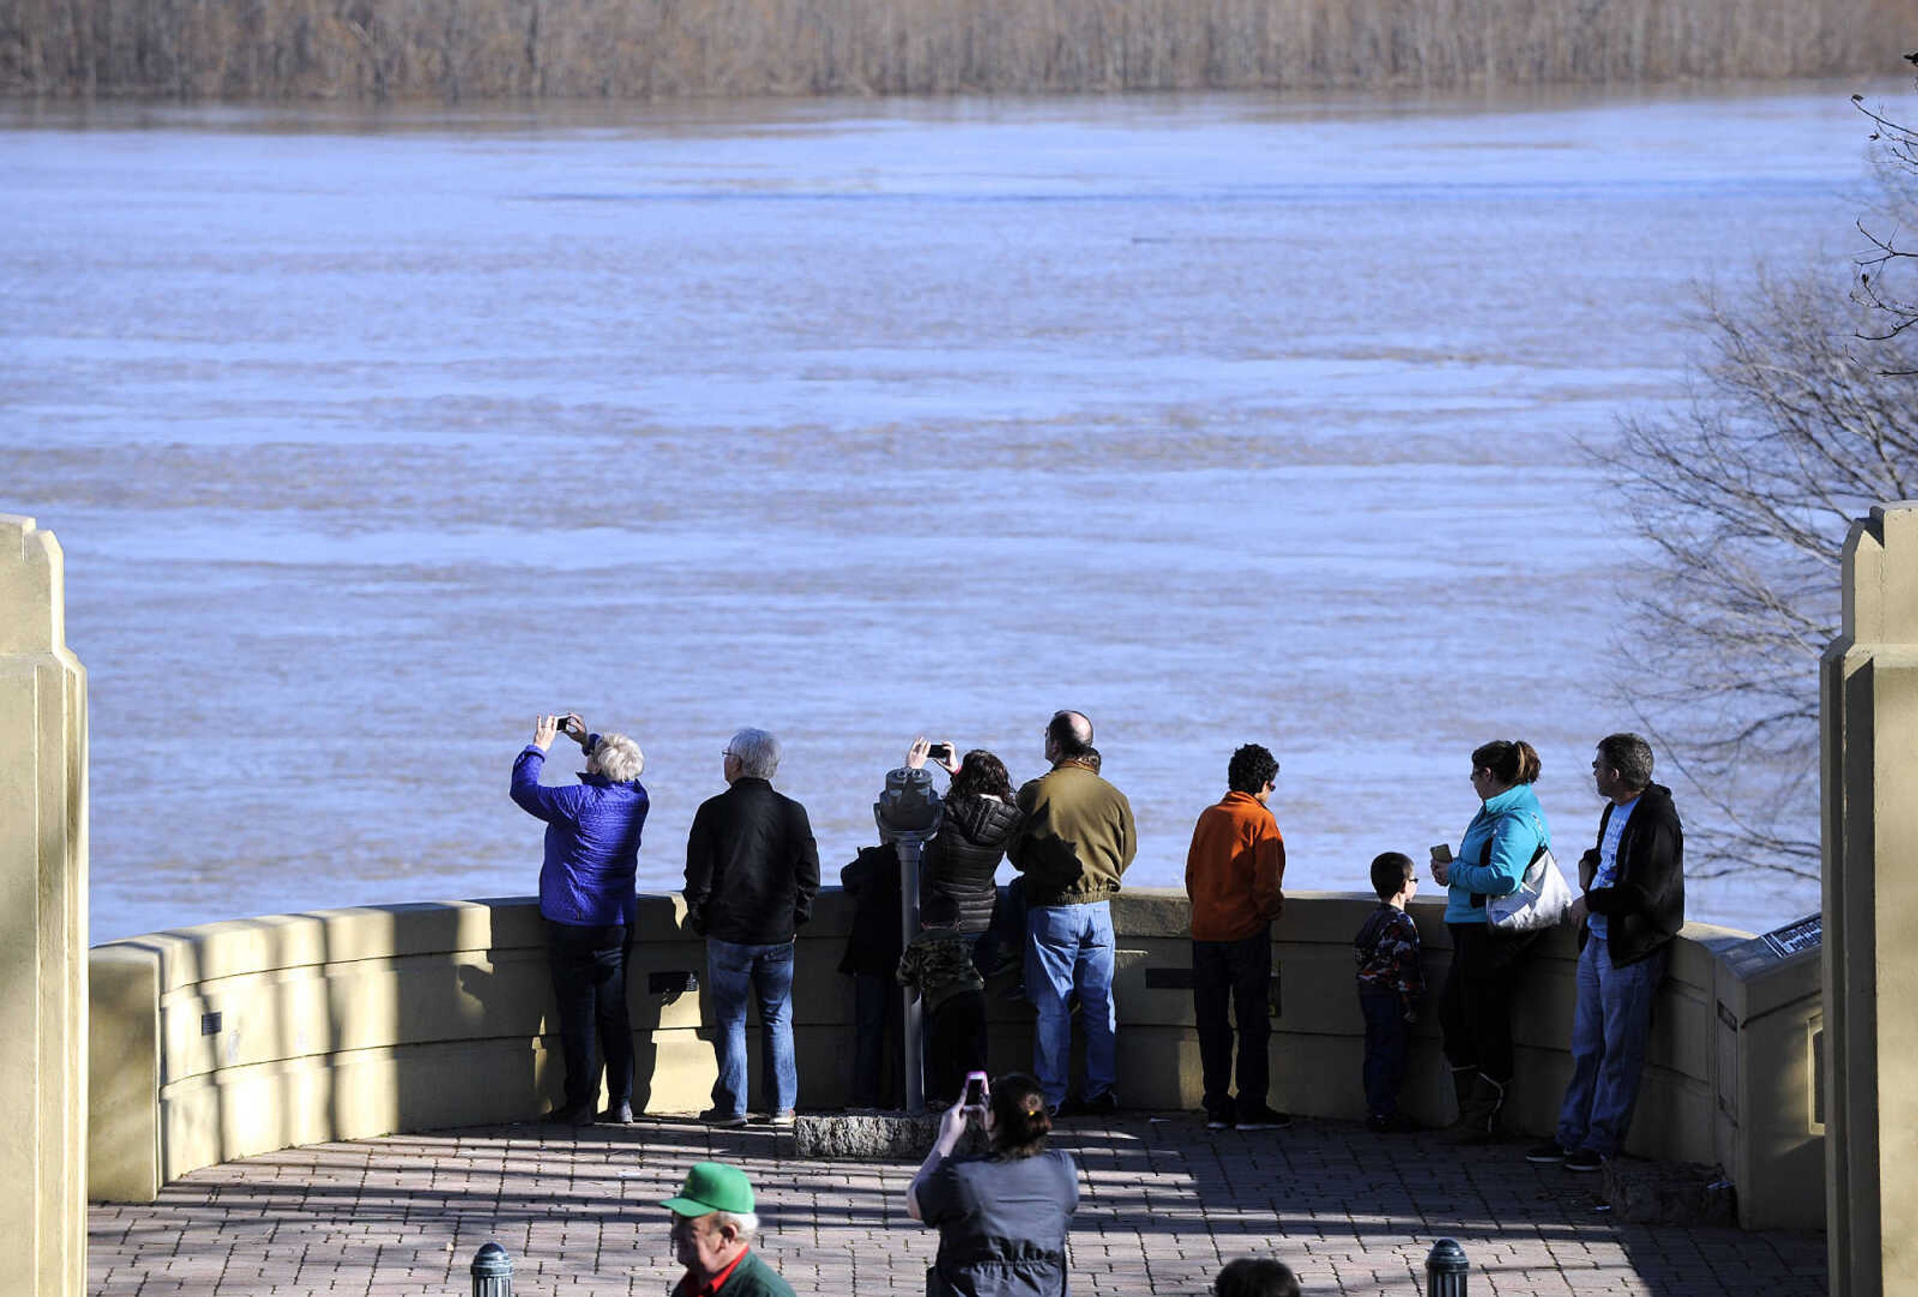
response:
<svg viewBox="0 0 1918 1297"><path fill-rule="evenodd" d="M0 514L0 1293L86 1291L86 672L59 543Z"/></svg>

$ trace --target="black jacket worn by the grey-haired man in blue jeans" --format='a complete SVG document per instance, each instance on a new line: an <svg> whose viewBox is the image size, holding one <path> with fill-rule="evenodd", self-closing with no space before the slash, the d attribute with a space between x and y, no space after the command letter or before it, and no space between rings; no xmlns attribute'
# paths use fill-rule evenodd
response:
<svg viewBox="0 0 1918 1297"><path fill-rule="evenodd" d="M692 931L740 946L779 946L813 917L819 848L806 808L765 779L740 777L700 804L687 835Z"/></svg>

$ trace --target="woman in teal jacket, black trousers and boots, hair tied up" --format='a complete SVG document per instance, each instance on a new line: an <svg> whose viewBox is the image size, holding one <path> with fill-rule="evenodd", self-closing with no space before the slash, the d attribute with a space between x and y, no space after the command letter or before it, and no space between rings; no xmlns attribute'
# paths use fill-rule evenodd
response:
<svg viewBox="0 0 1918 1297"><path fill-rule="evenodd" d="M1511 1090L1511 994L1523 975L1521 955L1538 934L1488 927L1485 902L1519 890L1525 869L1552 844L1546 814L1532 796L1534 779L1532 744L1496 741L1477 748L1471 789L1483 806L1465 827L1456 860L1433 852L1433 881L1446 888L1444 923L1452 934L1438 1025L1458 1092L1462 1144L1498 1138L1498 1115Z"/></svg>

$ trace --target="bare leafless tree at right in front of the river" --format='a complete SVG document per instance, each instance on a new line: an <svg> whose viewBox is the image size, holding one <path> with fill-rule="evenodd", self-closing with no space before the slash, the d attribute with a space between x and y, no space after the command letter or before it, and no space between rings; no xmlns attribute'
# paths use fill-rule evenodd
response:
<svg viewBox="0 0 1918 1297"><path fill-rule="evenodd" d="M1918 226L1914 138L1897 140L1851 290L1816 267L1707 295L1690 399L1596 451L1651 553L1621 693L1709 808L1688 815L1703 877L1818 877L1818 654L1839 629L1845 533L1918 497L1914 303L1882 278L1912 265L1901 240Z"/></svg>

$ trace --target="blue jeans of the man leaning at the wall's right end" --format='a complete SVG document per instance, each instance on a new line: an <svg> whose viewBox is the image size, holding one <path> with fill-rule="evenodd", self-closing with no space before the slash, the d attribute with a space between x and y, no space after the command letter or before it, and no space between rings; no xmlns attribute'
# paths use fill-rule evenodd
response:
<svg viewBox="0 0 1918 1297"><path fill-rule="evenodd" d="M1579 955L1579 1007L1571 1021L1571 1084L1559 1109L1557 1144L1613 1157L1638 1103L1651 1032L1651 996L1665 980L1671 946L1638 963L1611 967L1603 936Z"/></svg>

